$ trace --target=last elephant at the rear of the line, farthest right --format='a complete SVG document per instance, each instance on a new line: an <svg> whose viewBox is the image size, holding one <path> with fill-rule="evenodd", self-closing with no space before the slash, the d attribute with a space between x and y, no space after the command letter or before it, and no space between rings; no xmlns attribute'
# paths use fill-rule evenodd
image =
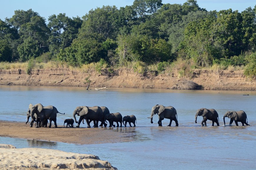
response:
<svg viewBox="0 0 256 170"><path fill-rule="evenodd" d="M238 126L237 122L241 122L242 126L247 125L250 126L248 124L248 119L247 119L247 115L243 110L240 111L228 111L225 113L225 115L223 116L223 121L224 121L224 125L225 125L225 117L230 118L230 123L229 126L231 126L231 124L233 123L233 121L235 120L235 124ZM247 123L246 123L246 119L247 119Z"/></svg>

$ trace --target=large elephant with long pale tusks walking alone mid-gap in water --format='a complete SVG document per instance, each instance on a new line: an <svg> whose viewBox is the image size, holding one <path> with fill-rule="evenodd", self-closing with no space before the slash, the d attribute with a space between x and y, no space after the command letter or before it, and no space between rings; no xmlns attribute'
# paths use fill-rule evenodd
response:
<svg viewBox="0 0 256 170"><path fill-rule="evenodd" d="M163 106L163 105L156 105L152 107L151 110L151 115L149 118L151 118L151 123L153 123L153 116L155 114L158 114L159 120L158 120L158 126L162 126L162 120L164 120L164 118L166 119L170 119L170 123L168 126L171 126L172 124L172 120L175 121L176 126L179 126L178 124L178 115L177 115L177 111L174 107L172 106ZM176 118L177 116L177 118Z"/></svg>

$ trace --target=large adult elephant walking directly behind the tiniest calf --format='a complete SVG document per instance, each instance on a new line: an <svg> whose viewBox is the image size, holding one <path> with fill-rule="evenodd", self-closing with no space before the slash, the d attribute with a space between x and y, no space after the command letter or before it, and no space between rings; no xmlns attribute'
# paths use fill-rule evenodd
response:
<svg viewBox="0 0 256 170"><path fill-rule="evenodd" d="M79 121L77 122L76 115L79 115ZM87 107L87 106L78 106L74 112L73 116L75 119L75 122L78 123L76 127L80 126L80 123L82 122L83 119L86 120L87 127L91 127L89 120L96 121L96 124L94 127L98 127L99 121L103 122L103 112L102 109L99 106L94 106L94 107Z"/></svg>

